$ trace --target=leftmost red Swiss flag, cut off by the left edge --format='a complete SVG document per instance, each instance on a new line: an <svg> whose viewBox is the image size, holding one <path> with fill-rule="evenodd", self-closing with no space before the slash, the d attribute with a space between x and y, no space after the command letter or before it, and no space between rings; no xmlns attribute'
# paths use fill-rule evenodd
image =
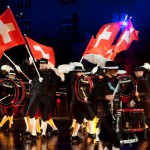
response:
<svg viewBox="0 0 150 150"><path fill-rule="evenodd" d="M7 8L0 16L0 51L4 53L5 50L21 44L25 44L25 40L10 8Z"/></svg>

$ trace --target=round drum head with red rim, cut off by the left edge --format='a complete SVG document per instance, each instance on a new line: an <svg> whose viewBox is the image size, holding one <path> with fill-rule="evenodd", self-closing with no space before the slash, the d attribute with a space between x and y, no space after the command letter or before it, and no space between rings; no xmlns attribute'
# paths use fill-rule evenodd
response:
<svg viewBox="0 0 150 150"><path fill-rule="evenodd" d="M10 79L0 81L0 105L11 107L19 97L19 90L16 83Z"/></svg>

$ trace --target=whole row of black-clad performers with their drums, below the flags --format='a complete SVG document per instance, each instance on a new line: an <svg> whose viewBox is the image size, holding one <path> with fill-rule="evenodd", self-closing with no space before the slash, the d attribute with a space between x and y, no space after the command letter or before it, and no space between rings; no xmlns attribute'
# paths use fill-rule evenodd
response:
<svg viewBox="0 0 150 150"><path fill-rule="evenodd" d="M150 84L148 63L132 69L133 75L120 70L115 61L106 61L87 71L81 63L73 67L54 68L48 60L36 61L37 68L28 61L26 73L30 77L28 91L23 79L18 79L19 66L1 66L0 102L3 118L0 130L8 121L8 130L13 128L14 106L21 105L20 113L26 125L20 134L27 141L39 136L59 134L59 127L52 114L56 104L56 92L65 84L70 126L70 142L79 144L83 138L91 143L101 142L104 150L119 150L122 145L132 144L150 133ZM38 76L38 69L40 76ZM69 71L64 71L68 69ZM24 100L26 98L26 100ZM47 133L47 127L52 131Z"/></svg>

